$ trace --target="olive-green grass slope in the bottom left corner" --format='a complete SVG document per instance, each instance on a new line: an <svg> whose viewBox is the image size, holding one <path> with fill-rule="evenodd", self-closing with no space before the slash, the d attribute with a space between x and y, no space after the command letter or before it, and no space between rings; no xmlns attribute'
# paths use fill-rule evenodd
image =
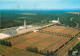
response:
<svg viewBox="0 0 80 56"><path fill-rule="evenodd" d="M32 52L24 51L18 48L0 45L0 55L5 56L43 56Z"/></svg>

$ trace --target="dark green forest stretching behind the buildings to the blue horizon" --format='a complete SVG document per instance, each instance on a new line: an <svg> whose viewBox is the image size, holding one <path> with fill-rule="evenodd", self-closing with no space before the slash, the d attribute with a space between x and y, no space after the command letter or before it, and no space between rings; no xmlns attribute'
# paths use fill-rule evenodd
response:
<svg viewBox="0 0 80 56"><path fill-rule="evenodd" d="M45 25L50 23L51 20L57 20L60 18L60 23L69 26L76 27L76 23L79 23L80 27L80 15L70 14L63 11L18 11L18 10L1 10L1 29L16 27L23 25L24 18L27 25ZM30 14L31 13L31 14ZM71 20L72 18L72 20Z"/></svg>

